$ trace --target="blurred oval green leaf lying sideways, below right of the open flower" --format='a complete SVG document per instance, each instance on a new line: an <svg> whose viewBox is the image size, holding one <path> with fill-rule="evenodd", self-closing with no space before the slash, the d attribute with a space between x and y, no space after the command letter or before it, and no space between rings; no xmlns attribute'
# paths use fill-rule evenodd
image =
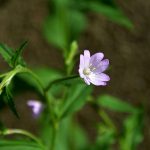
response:
<svg viewBox="0 0 150 150"><path fill-rule="evenodd" d="M118 112L133 113L137 111L137 109L130 104L110 95L100 96L97 103L102 107Z"/></svg>

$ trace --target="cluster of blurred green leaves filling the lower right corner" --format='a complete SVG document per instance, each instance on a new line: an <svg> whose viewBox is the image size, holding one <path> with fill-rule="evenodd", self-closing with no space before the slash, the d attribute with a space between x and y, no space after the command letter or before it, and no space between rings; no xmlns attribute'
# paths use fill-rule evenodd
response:
<svg viewBox="0 0 150 150"><path fill-rule="evenodd" d="M143 110L109 95L100 96L97 103L104 108L130 113L130 115L123 120L123 130L120 132L107 114L101 112L105 125L99 125L101 140L98 139L99 142L96 145L102 146L103 148L101 148L104 150L109 150L114 141L117 140L120 150L136 150L138 144L143 140Z"/></svg>

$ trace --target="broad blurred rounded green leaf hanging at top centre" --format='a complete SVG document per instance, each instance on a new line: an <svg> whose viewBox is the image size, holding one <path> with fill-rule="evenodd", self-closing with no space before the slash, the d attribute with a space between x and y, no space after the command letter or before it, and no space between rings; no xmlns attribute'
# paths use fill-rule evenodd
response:
<svg viewBox="0 0 150 150"><path fill-rule="evenodd" d="M79 37L87 22L84 13L71 7L71 3L68 0L53 1L54 6L50 8L53 11L44 23L45 37L62 50L68 50L70 43Z"/></svg>

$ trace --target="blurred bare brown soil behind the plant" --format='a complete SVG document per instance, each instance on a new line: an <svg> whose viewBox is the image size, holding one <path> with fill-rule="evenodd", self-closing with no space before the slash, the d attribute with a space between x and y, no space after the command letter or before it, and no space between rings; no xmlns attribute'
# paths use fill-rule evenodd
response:
<svg viewBox="0 0 150 150"><path fill-rule="evenodd" d="M111 81L107 87L97 87L95 95L109 93L135 106L144 105L145 136L141 150L148 150L150 147L150 1L118 0L117 4L134 23L134 30L129 31L108 21L104 16L89 13L88 28L79 39L79 48L92 50L93 53L102 51L105 57L110 59L111 68L108 74ZM63 66L61 54L46 42L42 34L43 20L47 13L46 0L0 0L0 42L16 48L27 39L29 44L24 51L24 58L29 66L51 66L61 69ZM2 57L0 68L0 72L7 68ZM36 98L37 96L30 92L16 97L21 120L18 121L7 109L0 113L0 117L8 127L36 132L35 120L32 119L31 112L26 106L27 99ZM121 116L115 113L111 115L116 121L121 120ZM92 123L97 120L96 113L87 106L80 112L79 117L93 137Z"/></svg>

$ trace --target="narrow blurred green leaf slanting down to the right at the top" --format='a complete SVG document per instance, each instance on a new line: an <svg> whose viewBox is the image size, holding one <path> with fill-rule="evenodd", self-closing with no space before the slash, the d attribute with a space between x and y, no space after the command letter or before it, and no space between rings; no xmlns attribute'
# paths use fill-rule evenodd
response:
<svg viewBox="0 0 150 150"><path fill-rule="evenodd" d="M101 13L106 16L108 19L128 28L133 29L133 23L126 17L123 12L117 7L111 7L100 2L90 1L89 9L97 13Z"/></svg>

